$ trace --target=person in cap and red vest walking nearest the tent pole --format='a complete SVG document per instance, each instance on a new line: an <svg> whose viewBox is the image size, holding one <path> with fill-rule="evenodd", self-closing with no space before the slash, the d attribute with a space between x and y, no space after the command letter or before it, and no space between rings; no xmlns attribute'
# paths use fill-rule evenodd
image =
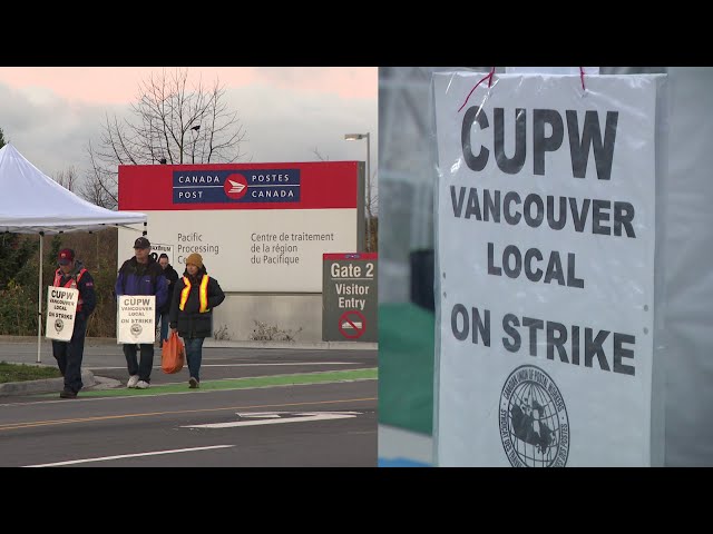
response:
<svg viewBox="0 0 713 534"><path fill-rule="evenodd" d="M94 278L84 264L75 258L75 250L62 248L57 255L59 267L55 271L53 287L77 289L79 298L75 309L75 326L69 342L52 339L52 356L65 377L65 388L60 398L77 398L82 388L81 360L85 353L85 337L87 335L87 319L97 305L94 289Z"/></svg>

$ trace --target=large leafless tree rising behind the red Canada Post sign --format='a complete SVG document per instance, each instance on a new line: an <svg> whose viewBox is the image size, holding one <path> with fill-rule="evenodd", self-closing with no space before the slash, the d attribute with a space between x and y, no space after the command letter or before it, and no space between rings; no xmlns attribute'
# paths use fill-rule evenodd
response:
<svg viewBox="0 0 713 534"><path fill-rule="evenodd" d="M130 119L106 116L99 142L87 146L91 169L90 197L104 206L118 205L119 165L233 162L243 158L245 130L237 112L224 101L218 80L209 88L202 81L188 87L188 70L152 73L139 83L138 101ZM99 204L99 202L97 202Z"/></svg>

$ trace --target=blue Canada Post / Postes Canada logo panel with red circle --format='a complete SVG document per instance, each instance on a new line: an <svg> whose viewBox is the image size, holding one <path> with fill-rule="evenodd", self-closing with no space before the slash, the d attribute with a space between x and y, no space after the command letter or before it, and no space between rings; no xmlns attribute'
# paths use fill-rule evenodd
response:
<svg viewBox="0 0 713 534"><path fill-rule="evenodd" d="M176 170L174 204L299 202L300 169Z"/></svg>

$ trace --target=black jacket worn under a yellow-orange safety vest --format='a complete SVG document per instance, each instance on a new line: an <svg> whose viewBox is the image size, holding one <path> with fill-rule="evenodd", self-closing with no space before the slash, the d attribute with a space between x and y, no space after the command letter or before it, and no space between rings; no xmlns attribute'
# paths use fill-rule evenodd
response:
<svg viewBox="0 0 713 534"><path fill-rule="evenodd" d="M205 266L198 270L195 277L188 275L188 271L184 271L184 277L191 281L191 291L186 299L186 306L184 309L178 309L180 305L180 293L186 287L183 277L176 281L174 288L174 297L170 303L169 326L172 328L178 328L178 335L183 338L192 337L213 337L213 308L218 306L225 300L225 294L221 289L218 280L211 277L208 279L208 308L206 312L201 313L201 281L203 277L207 276Z"/></svg>

